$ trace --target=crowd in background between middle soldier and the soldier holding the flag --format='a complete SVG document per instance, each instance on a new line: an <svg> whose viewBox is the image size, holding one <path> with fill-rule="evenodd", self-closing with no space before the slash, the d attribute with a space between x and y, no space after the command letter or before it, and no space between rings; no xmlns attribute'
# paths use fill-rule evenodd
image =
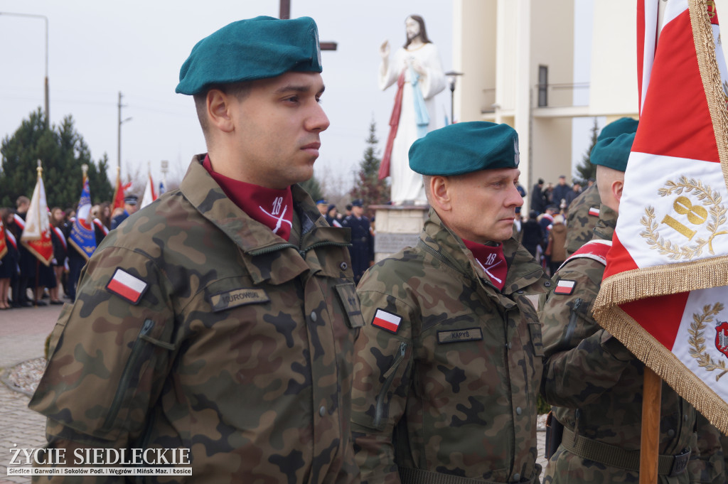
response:
<svg viewBox="0 0 728 484"><path fill-rule="evenodd" d="M554 183L546 183L539 178L531 188L531 202L528 213L521 211L521 220L517 221L515 230L518 239L537 258L537 261L549 274L566 261L566 217L569 206L585 189L595 183L593 178L587 180L586 186L574 181L573 185L566 182L566 175L558 177ZM519 186L521 196L526 191Z"/></svg>

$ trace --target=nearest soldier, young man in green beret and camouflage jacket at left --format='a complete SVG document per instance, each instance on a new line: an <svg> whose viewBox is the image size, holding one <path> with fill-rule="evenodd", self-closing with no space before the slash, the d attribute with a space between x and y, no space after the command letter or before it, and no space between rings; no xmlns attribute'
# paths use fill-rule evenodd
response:
<svg viewBox="0 0 728 484"><path fill-rule="evenodd" d="M296 185L329 125L321 71L308 17L241 20L194 46L177 92L207 153L86 266L31 402L50 448L168 449L193 471L175 482L359 481L348 234Z"/></svg>

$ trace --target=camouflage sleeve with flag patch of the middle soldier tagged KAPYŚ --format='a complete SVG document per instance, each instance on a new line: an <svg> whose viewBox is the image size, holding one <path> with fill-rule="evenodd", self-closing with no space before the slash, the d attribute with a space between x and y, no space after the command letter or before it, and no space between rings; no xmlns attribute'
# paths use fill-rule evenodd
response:
<svg viewBox="0 0 728 484"><path fill-rule="evenodd" d="M367 290L373 279L363 280L357 290L367 324L355 346L352 437L362 483L392 484L400 482L392 435L405 412L411 385L415 311L391 295ZM375 315L401 320L390 331L372 324Z"/></svg>

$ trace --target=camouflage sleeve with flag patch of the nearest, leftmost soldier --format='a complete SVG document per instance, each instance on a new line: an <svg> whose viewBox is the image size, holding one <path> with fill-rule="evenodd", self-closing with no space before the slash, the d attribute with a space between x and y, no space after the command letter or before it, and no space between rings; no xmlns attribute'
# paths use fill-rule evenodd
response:
<svg viewBox="0 0 728 484"><path fill-rule="evenodd" d="M119 274L141 293L138 301L133 291L114 289ZM84 268L76 302L66 305L52 332L49 362L29 405L47 416L47 447L66 448L68 464L78 465L76 448L126 448L140 439L174 350L168 287L145 255L122 247L100 250Z"/></svg>

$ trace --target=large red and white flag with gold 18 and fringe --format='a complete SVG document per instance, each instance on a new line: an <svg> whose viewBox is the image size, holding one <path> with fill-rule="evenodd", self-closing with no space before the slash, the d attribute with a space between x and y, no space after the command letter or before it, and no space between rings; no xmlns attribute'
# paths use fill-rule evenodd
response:
<svg viewBox="0 0 728 484"><path fill-rule="evenodd" d="M718 15L708 0L638 0L637 17L640 121L594 313L728 434L728 76Z"/></svg>

